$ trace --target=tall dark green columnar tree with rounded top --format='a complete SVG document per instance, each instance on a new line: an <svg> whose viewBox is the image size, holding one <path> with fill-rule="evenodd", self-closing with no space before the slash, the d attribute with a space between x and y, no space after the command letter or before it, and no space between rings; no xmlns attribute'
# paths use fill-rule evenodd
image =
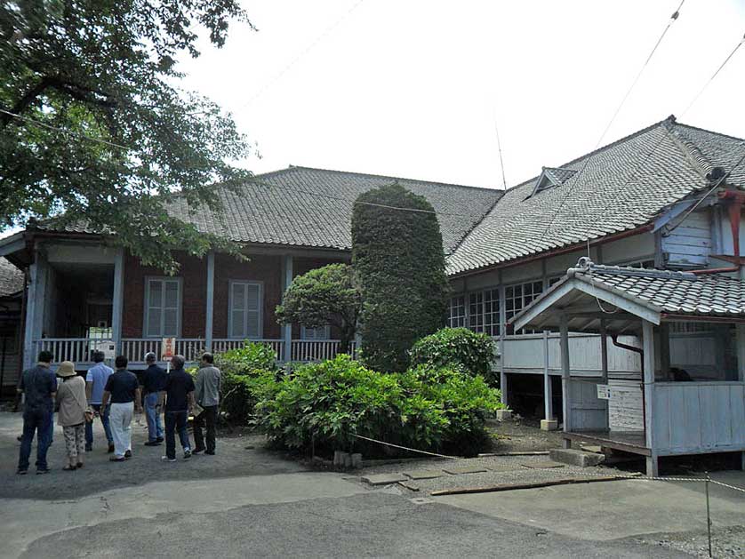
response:
<svg viewBox="0 0 745 559"><path fill-rule="evenodd" d="M445 253L432 205L398 184L359 196L352 266L363 301L364 362L377 371L403 371L413 343L445 321Z"/></svg>

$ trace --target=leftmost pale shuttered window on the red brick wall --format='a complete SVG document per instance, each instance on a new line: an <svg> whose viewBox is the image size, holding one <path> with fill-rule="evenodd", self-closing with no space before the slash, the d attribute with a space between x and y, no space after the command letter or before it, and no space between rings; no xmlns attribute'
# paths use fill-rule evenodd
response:
<svg viewBox="0 0 745 559"><path fill-rule="evenodd" d="M181 279L148 277L145 280L145 337L179 337Z"/></svg>

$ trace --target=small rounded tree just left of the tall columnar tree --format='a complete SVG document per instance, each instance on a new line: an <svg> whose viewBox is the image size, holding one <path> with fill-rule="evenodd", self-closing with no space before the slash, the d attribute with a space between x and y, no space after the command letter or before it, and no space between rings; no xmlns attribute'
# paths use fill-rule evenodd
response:
<svg viewBox="0 0 745 559"><path fill-rule="evenodd" d="M279 323L299 323L306 328L333 326L339 331L340 351L348 353L355 339L360 310L359 291L348 264L329 264L292 280L276 307Z"/></svg>

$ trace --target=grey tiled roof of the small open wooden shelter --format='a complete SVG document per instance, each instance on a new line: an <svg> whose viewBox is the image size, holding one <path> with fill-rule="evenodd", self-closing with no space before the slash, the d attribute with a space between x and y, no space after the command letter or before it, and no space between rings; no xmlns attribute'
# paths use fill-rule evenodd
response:
<svg viewBox="0 0 745 559"><path fill-rule="evenodd" d="M593 265L570 276L670 315L745 315L745 282L712 274Z"/></svg>

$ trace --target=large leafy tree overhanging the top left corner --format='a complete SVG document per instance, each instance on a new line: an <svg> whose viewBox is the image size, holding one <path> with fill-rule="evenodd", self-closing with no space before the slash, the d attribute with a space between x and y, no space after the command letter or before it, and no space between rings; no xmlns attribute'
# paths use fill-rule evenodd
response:
<svg viewBox="0 0 745 559"><path fill-rule="evenodd" d="M171 269L175 249L236 251L166 211L217 208L212 184L248 176L232 118L176 86L196 30L220 47L231 21L251 26L237 0L0 4L0 230L83 221Z"/></svg>

